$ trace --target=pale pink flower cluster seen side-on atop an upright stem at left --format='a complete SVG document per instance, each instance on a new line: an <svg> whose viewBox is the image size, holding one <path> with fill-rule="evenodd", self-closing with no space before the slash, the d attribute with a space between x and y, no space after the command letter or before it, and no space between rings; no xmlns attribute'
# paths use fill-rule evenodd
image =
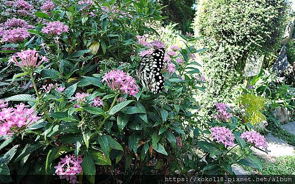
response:
<svg viewBox="0 0 295 184"><path fill-rule="evenodd" d="M17 59L20 59L21 61L18 61ZM45 56L39 56L39 53L35 50L27 50L16 53L16 55L13 55L9 59L9 62L13 62L23 70L36 69L42 64L43 61L47 62L48 59Z"/></svg>

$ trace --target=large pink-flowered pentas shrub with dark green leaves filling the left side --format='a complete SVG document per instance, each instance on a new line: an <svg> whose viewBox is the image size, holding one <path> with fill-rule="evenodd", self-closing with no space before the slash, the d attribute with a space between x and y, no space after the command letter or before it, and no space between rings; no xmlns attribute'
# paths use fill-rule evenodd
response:
<svg viewBox="0 0 295 184"><path fill-rule="evenodd" d="M194 60L203 50L193 47L191 35L181 35L185 47L149 39L157 32L147 23L164 18L160 4L53 2L34 12L38 20L24 18L32 25L22 28L27 36L11 42L2 35L0 174L7 176L5 182L26 183L26 174L70 183L99 183L108 175L136 182L137 175L233 174L231 164L253 166L250 147L258 144L240 138L225 105L216 114L226 116L209 128L190 127L192 111L199 108L193 96L205 91L206 79ZM24 0L18 3L31 9ZM165 83L153 94L135 73L141 57L158 48L167 50L160 71ZM10 172L18 177L8 177Z"/></svg>

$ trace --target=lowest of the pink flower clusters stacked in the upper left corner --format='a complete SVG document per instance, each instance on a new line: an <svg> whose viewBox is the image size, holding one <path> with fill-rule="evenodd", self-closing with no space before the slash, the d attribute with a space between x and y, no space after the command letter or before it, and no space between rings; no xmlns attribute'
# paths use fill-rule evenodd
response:
<svg viewBox="0 0 295 184"><path fill-rule="evenodd" d="M2 35L3 42L18 43L23 42L29 37L29 32L26 28L15 28L5 30Z"/></svg>

